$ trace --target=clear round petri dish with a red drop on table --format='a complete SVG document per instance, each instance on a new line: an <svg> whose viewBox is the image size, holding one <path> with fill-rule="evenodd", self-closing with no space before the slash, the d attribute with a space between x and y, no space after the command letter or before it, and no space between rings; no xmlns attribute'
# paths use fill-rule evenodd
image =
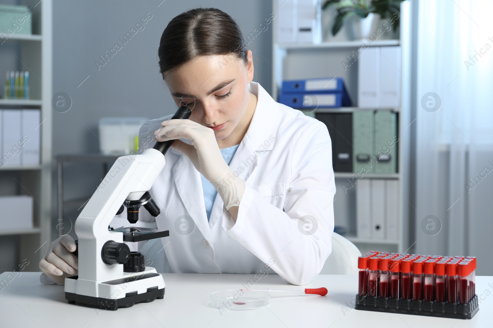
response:
<svg viewBox="0 0 493 328"><path fill-rule="evenodd" d="M230 289L212 293L209 305L221 310L254 310L269 305L270 298L262 291Z"/></svg>

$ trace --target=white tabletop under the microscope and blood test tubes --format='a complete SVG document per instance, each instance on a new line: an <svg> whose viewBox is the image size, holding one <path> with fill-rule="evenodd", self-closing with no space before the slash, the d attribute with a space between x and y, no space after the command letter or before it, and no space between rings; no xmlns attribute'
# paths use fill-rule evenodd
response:
<svg viewBox="0 0 493 328"><path fill-rule="evenodd" d="M0 274L0 282L9 272ZM39 272L16 272L0 285L0 327L410 327L461 328L493 326L493 277L479 276L476 294L480 310L471 320L434 318L355 310L356 275L318 275L301 288L326 287L329 294L286 296L271 293L268 307L229 310L222 315L208 306L212 292L245 288L253 274L164 274L164 299L138 303L117 311L68 304L64 287L42 285ZM7 279L8 280L8 279ZM286 285L276 274L261 277L252 289L300 288ZM492 294L492 295L490 295ZM488 295L488 296L486 296Z"/></svg>

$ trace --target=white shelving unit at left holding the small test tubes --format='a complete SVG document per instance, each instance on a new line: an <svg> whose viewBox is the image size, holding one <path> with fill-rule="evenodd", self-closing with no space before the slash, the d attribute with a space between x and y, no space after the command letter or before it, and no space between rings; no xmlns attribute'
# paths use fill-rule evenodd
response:
<svg viewBox="0 0 493 328"><path fill-rule="evenodd" d="M52 170L52 1L21 0L32 10L33 34L12 34L6 38L6 44L18 44L20 58L18 67L13 70L30 72L31 99L0 99L1 109L40 109L40 162L35 166L0 168L0 179L19 176L15 186L19 194L32 195L34 198L34 228L1 230L3 236L19 236L20 252L16 264L24 259L30 261L29 271L37 271L37 263L51 242L51 170ZM0 47L0 51L2 51ZM5 182L5 181L2 181ZM20 185L19 185L20 184ZM4 193L2 193L4 194ZM15 218L6 218L15 219Z"/></svg>

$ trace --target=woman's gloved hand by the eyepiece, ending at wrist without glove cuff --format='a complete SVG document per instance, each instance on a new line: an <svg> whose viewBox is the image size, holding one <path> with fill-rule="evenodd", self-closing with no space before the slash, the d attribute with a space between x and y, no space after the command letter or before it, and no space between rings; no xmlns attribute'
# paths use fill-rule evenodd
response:
<svg viewBox="0 0 493 328"><path fill-rule="evenodd" d="M171 148L184 153L204 178L210 182L222 177L229 166L224 161L214 130L190 119L169 119L161 122L162 128L154 132L157 141L176 139ZM181 140L190 139L192 145Z"/></svg>

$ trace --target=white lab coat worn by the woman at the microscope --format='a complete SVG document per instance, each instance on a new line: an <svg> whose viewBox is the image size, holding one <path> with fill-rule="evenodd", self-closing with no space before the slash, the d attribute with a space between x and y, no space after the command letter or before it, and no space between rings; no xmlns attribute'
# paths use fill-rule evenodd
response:
<svg viewBox="0 0 493 328"><path fill-rule="evenodd" d="M329 133L324 123L277 103L260 84L248 89L257 105L230 164L246 184L236 223L219 194L208 222L200 173L179 151L165 155L150 193L161 209L158 229L170 231L162 239L166 267L174 273L278 273L305 285L331 253L336 188ZM154 131L171 116L145 122L140 145L152 140L145 148L153 147ZM154 218L141 208L140 220Z"/></svg>

